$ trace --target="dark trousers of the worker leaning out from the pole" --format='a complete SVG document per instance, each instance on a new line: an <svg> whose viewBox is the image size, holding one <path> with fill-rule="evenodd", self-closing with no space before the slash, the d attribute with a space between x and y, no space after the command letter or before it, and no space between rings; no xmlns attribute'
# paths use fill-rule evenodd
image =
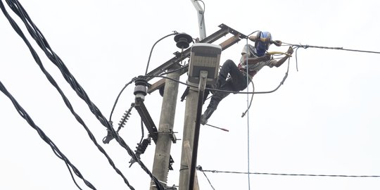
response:
<svg viewBox="0 0 380 190"><path fill-rule="evenodd" d="M228 74L231 76L228 80ZM225 91L241 91L247 87L247 77L237 68L232 60L227 60L220 69L219 76L217 77L217 89ZM211 97L210 104L207 108L216 110L217 105L229 95L229 92L215 91Z"/></svg>

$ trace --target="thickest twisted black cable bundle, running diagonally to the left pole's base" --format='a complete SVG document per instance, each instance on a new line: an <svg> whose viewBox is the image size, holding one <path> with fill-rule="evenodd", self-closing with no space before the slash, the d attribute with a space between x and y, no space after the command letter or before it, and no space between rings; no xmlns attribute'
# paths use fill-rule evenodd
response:
<svg viewBox="0 0 380 190"><path fill-rule="evenodd" d="M125 148L127 150L129 156L131 156L132 158L137 160L136 159L137 157L134 154L134 152L132 151L132 149L130 149L129 146L127 146L127 144L125 143L125 141L121 137L119 137L118 133L115 132L115 129L113 129L110 122L108 122L107 119L103 116L103 114L101 113L99 108L97 108L95 106L95 104L92 103L92 101L89 99L89 96L87 96L84 89L82 89L82 87L77 82L77 80L75 80L75 77L73 77L71 75L70 71L68 70L68 68L66 68L66 66L63 63L63 61L61 60L61 58L59 58L59 56L56 55L56 53L54 53L53 50L50 48L48 42L46 42L46 39L44 39L42 32L40 32L39 29L34 25L32 20L30 20L30 18L27 15L23 6L21 6L17 0L6 0L6 1L9 4L9 6L11 7L11 9L17 15L19 15L19 17L23 20L23 22L25 23L25 26L27 27L27 30L30 32L30 34L32 35L34 40L37 42L37 44L39 44L39 47L46 53L46 56L48 56L48 58L51 60L51 62L54 63L61 70L63 77L70 84L72 89L74 89L77 92L77 95L80 96L80 98L83 99L87 103L91 112L96 116L96 118L101 122L101 124L103 126L105 126L108 129L108 131L111 132L111 134L113 135L113 137L115 137L115 139L118 141L120 146L122 146L123 148ZM13 4L11 4L11 3L13 3ZM5 11L5 9L4 9L4 11ZM13 23L14 23L14 21L13 21ZM30 25L32 25L32 26L30 26ZM27 44L29 44L29 43L27 43ZM37 55L37 53L32 53L32 54ZM141 168L149 175L149 177L151 177L151 179L153 180L153 182L155 182L155 184L159 190L165 189L165 187L159 182L159 180L156 177L153 176L153 174L148 170L148 168L144 165L144 163L141 162L141 160L137 160L137 163L139 163ZM121 172L119 174L122 175ZM123 177L123 178L125 179L125 177ZM125 182L126 182L126 179L125 179ZM129 184L129 183L127 183L127 184ZM129 186L129 188L131 188L131 187L132 186Z"/></svg>

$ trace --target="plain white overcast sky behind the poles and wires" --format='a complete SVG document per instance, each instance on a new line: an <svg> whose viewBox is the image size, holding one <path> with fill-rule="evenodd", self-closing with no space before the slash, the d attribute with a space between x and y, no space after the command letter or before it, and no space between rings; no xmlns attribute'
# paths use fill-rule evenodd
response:
<svg viewBox="0 0 380 190"><path fill-rule="evenodd" d="M379 1L204 2L208 35L224 23L243 34L270 31L274 39L291 44L380 51ZM106 118L122 87L133 77L144 75L149 52L158 39L173 30L194 38L199 36L191 1L39 0L21 4ZM15 14L11 15L25 28ZM97 189L129 189L71 115L3 14L0 31L0 81L8 91ZM116 167L135 189L148 189L148 175L137 164L128 167L130 157L115 140L101 143L106 128L31 38L30 42ZM242 40L223 51L221 64L227 58L237 64L245 43ZM286 49L272 46L270 51ZM149 70L172 58L175 51L180 49L173 37L159 42ZM249 123L251 172L380 175L379 58L375 53L299 49L298 72L296 60L291 58L284 85L272 94L254 96L249 122L247 117L241 118L247 106L246 95L231 94L220 103L209 123L229 132L201 127L197 165L204 170L247 172ZM263 68L254 78L255 90L274 89L285 72L286 64L281 68ZM186 75L182 75L181 81L186 81ZM134 101L133 88L131 84L120 97L113 113L115 125ZM175 115L179 139L185 106L179 98L184 89L181 84ZM146 96L145 103L158 126L162 98L156 91ZM65 163L4 95L0 95L0 115L0 189L77 189ZM134 150L141 138L136 110L120 135ZM179 183L181 146L182 141L172 145L175 170L169 173L169 185ZM149 170L154 149L152 143L141 156ZM247 175L206 175L215 189L248 189ZM81 179L76 179L82 189L88 189ZM212 189L201 172L198 179L201 189ZM251 189L260 190L379 188L379 178L251 175Z"/></svg>

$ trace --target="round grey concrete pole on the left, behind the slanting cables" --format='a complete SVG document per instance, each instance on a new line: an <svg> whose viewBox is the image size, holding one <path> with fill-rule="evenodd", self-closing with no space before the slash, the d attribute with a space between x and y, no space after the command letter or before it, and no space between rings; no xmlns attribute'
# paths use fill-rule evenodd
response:
<svg viewBox="0 0 380 190"><path fill-rule="evenodd" d="M177 68L179 68L179 65L173 65L170 70L175 70ZM167 77L179 80L180 74L180 71L171 72L167 74ZM158 125L158 138L153 161L152 174L165 184L167 183L167 174L169 172L170 148L172 146L172 139L175 138L173 127L175 121L175 108L177 106L178 85L178 82L172 80L165 81L160 123ZM156 184L153 181L151 181L150 189L157 189Z"/></svg>

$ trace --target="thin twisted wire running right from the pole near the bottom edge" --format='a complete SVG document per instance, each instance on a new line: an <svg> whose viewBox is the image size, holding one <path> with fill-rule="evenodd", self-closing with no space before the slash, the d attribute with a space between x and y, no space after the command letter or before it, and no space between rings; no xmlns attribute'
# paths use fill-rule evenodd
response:
<svg viewBox="0 0 380 190"><path fill-rule="evenodd" d="M284 173L263 173L263 172L234 172L234 171L220 171L220 170L203 170L202 167L197 167L201 172L213 173L229 173L229 174L252 174L252 175L282 175L282 176L309 176L309 177L380 177L380 175L312 175L312 174L284 174Z"/></svg>

